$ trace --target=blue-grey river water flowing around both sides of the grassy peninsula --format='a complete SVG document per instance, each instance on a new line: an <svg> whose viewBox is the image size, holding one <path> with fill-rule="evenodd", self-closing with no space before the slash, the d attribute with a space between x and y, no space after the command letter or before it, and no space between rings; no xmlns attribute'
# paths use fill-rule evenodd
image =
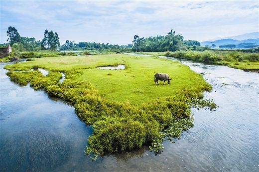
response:
<svg viewBox="0 0 259 172"><path fill-rule="evenodd" d="M161 155L143 147L96 161L84 155L92 128L74 108L12 83L0 64L0 172L258 172L259 74L181 62L204 74L219 108L192 109L194 127Z"/></svg>

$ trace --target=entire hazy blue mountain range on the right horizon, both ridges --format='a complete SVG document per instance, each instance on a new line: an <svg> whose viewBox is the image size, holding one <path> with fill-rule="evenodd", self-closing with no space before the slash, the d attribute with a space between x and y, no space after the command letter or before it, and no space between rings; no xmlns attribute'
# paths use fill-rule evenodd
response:
<svg viewBox="0 0 259 172"><path fill-rule="evenodd" d="M259 32L253 32L253 33L246 33L246 34L241 34L237 36L230 36L230 37L225 37L221 38L218 40L214 41L204 41L201 42L201 46L206 46L209 45L211 46L212 44L215 44L217 47L219 45L227 45L227 44L240 44L240 43L255 43L259 45Z"/></svg>

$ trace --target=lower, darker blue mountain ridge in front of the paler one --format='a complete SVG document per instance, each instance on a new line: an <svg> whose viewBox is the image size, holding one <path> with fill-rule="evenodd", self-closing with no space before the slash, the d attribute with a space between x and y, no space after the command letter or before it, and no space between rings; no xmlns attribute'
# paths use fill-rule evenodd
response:
<svg viewBox="0 0 259 172"><path fill-rule="evenodd" d="M209 45L211 46L212 44L215 44L216 47L219 47L220 45L228 45L228 44L235 44L238 45L240 43L255 43L259 45L259 38L257 39L244 39L244 40L237 40L237 39L219 39L215 41L204 41L201 42L201 46L206 46Z"/></svg>

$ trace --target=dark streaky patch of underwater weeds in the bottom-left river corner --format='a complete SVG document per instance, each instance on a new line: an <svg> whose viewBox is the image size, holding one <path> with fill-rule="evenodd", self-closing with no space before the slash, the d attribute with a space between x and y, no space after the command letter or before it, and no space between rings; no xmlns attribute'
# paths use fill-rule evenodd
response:
<svg viewBox="0 0 259 172"><path fill-rule="evenodd" d="M1 172L48 171L69 157L70 144L44 129L28 128L8 139L1 139L4 139L0 143Z"/></svg>

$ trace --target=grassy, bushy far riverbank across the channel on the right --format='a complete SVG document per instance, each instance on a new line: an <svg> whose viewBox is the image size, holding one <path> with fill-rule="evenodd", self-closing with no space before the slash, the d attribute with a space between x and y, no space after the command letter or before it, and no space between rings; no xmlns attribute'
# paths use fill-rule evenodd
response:
<svg viewBox="0 0 259 172"><path fill-rule="evenodd" d="M225 65L249 72L259 72L259 53L211 50L140 53L186 59L208 64Z"/></svg>

